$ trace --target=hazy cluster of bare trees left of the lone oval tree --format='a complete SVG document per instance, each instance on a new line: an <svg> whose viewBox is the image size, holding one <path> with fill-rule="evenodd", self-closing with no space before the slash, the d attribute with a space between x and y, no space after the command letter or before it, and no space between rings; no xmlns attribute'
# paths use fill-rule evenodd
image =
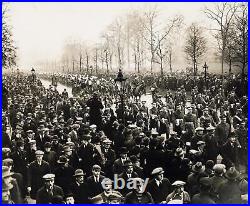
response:
<svg viewBox="0 0 250 206"><path fill-rule="evenodd" d="M134 68L140 73L150 65L160 65L163 74L164 64L172 70L172 44L174 33L183 23L182 16L174 16L164 25L159 23L159 11L150 8L145 12L134 10L124 17L115 19L101 34L100 42L88 45L86 42L68 41L61 59L63 71L107 73L122 68Z"/></svg>

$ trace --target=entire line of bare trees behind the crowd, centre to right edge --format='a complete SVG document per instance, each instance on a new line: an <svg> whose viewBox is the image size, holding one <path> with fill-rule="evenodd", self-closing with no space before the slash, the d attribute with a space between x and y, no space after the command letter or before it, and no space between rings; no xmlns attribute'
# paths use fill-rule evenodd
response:
<svg viewBox="0 0 250 206"><path fill-rule="evenodd" d="M226 63L229 73L233 66L238 66L244 75L248 64L247 4L220 3L213 8L205 8L203 12L214 22L214 27L204 28L192 23L186 29L184 52L194 75L208 50L204 35L207 30L211 30L217 41L221 73L224 74ZM85 70L91 73L101 70L109 73L113 69L134 68L135 72L140 73L145 68L153 72L158 66L161 74L166 68L172 72L175 42L178 41L180 28L184 26L184 19L181 15L164 22L159 18L157 7L150 7L144 12L134 10L110 24L102 33L100 42L94 46L83 42L67 42L61 60L63 70Z"/></svg>

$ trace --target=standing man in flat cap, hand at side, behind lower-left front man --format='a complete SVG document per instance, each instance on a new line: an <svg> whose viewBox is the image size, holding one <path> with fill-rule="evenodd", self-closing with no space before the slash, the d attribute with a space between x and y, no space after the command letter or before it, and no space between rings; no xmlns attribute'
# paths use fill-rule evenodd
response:
<svg viewBox="0 0 250 206"><path fill-rule="evenodd" d="M44 152L41 150L36 151L36 160L31 162L28 168L28 192L30 197L35 199L36 192L43 185L42 177L50 172L48 162L43 160Z"/></svg>

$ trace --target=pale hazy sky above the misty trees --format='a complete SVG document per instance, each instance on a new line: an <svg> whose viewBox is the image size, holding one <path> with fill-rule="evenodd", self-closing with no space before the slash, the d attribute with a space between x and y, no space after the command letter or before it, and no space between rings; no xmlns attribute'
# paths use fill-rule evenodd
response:
<svg viewBox="0 0 250 206"><path fill-rule="evenodd" d="M60 59L69 38L90 43L117 16L129 9L143 9L150 3L8 3L14 40L18 46L19 65L29 69L38 61ZM155 4L155 3L154 3ZM201 11L204 3L157 3L162 19L182 14L185 23L207 22ZM206 3L209 4L209 3Z"/></svg>

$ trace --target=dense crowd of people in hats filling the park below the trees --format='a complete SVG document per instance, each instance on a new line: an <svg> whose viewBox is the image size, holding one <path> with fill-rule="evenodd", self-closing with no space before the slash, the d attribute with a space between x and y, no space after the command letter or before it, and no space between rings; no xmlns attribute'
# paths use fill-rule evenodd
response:
<svg viewBox="0 0 250 206"><path fill-rule="evenodd" d="M111 77L61 75L69 97L4 75L2 203L247 203L243 89L147 78L129 77L121 104ZM130 92L140 82L151 105Z"/></svg>

